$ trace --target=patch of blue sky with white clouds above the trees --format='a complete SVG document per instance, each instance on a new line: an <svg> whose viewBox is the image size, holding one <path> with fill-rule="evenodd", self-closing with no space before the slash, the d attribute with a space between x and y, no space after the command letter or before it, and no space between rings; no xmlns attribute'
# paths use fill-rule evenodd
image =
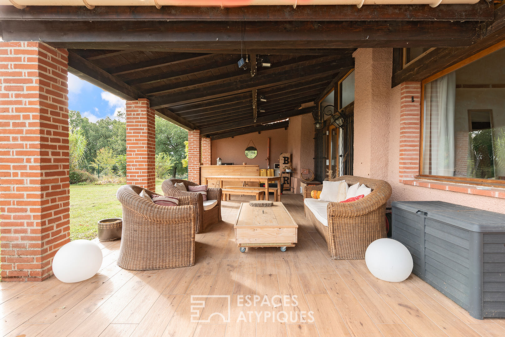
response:
<svg viewBox="0 0 505 337"><path fill-rule="evenodd" d="M68 108L94 123L107 116L115 118L117 111L125 108L125 100L69 73Z"/></svg>

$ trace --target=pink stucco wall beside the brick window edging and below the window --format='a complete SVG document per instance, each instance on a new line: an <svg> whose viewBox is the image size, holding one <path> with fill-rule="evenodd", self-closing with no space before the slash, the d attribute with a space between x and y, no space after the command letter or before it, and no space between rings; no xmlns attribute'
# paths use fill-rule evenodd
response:
<svg viewBox="0 0 505 337"><path fill-rule="evenodd" d="M356 65L354 174L386 180L394 200L443 200L505 213L505 200L399 182L400 90L391 89L392 49L361 48Z"/></svg>

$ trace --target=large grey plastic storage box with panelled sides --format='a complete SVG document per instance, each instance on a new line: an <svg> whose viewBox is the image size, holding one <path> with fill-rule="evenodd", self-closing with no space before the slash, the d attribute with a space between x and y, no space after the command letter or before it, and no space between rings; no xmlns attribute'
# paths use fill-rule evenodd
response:
<svg viewBox="0 0 505 337"><path fill-rule="evenodd" d="M394 201L392 238L413 272L475 318L505 317L505 214L442 201Z"/></svg>

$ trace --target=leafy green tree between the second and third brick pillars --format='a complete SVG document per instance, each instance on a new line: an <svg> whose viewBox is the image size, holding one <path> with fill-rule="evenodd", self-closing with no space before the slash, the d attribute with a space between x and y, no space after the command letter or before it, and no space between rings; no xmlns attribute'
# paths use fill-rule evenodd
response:
<svg viewBox="0 0 505 337"><path fill-rule="evenodd" d="M177 125L160 117L156 117L156 153L168 153L172 159L172 178L176 174L187 173L185 143L188 140L188 132Z"/></svg>

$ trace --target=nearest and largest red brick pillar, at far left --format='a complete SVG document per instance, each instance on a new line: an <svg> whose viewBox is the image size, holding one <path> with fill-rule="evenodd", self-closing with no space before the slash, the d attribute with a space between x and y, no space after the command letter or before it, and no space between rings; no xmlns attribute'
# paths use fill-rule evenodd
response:
<svg viewBox="0 0 505 337"><path fill-rule="evenodd" d="M41 281L70 241L68 52L0 42L2 281Z"/></svg>

